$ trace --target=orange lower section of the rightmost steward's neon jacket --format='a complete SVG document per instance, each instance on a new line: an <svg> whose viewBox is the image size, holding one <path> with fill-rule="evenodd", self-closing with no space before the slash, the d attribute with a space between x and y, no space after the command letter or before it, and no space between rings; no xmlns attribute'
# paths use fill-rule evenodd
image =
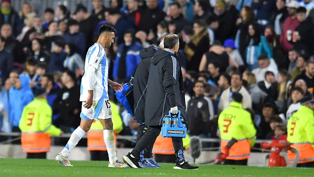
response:
<svg viewBox="0 0 314 177"><path fill-rule="evenodd" d="M298 163L314 162L314 149L310 142L293 143L291 147L300 151ZM295 159L295 153L288 151L289 163Z"/></svg>

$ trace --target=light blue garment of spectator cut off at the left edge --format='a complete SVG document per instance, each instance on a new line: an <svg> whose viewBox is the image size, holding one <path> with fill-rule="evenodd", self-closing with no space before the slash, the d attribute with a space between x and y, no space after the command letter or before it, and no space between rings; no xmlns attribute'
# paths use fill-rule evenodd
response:
<svg viewBox="0 0 314 177"><path fill-rule="evenodd" d="M8 125L9 115L9 97L8 92L2 88L2 80L0 79L0 131L9 133L10 128Z"/></svg>

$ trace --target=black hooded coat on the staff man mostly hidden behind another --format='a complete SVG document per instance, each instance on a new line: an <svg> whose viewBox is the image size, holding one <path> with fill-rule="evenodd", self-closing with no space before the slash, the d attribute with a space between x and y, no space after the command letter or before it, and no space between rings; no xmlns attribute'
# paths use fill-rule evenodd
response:
<svg viewBox="0 0 314 177"><path fill-rule="evenodd" d="M145 97L149 75L150 59L156 53L154 45L146 47L139 52L142 60L139 61L133 79L134 118L145 122Z"/></svg>

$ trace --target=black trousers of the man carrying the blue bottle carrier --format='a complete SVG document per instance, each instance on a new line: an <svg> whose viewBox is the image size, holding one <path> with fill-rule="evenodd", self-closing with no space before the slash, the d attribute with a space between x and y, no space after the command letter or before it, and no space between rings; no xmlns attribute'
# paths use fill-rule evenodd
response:
<svg viewBox="0 0 314 177"><path fill-rule="evenodd" d="M138 141L136 146L133 148L133 151L131 152L131 154L137 159L140 159L140 152L142 152L145 147L155 142L161 131L161 125L147 126L147 128L148 130L144 133L142 138ZM172 144L176 154L176 161L184 161L182 138L172 138Z"/></svg>

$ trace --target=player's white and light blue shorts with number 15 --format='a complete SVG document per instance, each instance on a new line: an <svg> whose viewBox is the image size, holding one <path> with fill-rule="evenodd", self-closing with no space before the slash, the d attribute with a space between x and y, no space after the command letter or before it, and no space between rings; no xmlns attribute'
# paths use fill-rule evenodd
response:
<svg viewBox="0 0 314 177"><path fill-rule="evenodd" d="M87 109L82 102L82 112L80 117L86 120L109 119L112 117L110 101L107 98L100 98L99 101L93 101L92 107Z"/></svg>

